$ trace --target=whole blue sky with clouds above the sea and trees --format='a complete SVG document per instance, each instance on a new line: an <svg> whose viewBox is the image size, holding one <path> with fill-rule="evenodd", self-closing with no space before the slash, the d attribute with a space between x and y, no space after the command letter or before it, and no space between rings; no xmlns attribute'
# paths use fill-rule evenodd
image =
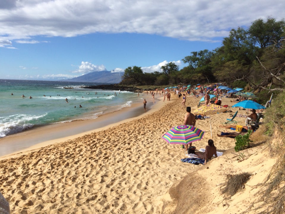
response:
<svg viewBox="0 0 285 214"><path fill-rule="evenodd" d="M221 47L231 29L280 21L284 0L1 0L0 79L61 80L161 66Z"/></svg>

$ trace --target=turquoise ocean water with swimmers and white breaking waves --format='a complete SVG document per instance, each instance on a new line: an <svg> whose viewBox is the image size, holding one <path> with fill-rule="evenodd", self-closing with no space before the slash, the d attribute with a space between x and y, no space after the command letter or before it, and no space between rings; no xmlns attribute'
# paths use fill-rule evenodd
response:
<svg viewBox="0 0 285 214"><path fill-rule="evenodd" d="M0 79L0 138L39 125L95 119L141 101L133 92L80 88L87 85L94 84Z"/></svg>

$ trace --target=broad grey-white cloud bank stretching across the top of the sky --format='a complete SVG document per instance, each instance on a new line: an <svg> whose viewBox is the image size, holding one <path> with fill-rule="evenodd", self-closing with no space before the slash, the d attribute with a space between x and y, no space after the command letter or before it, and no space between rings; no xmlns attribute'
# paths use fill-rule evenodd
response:
<svg viewBox="0 0 285 214"><path fill-rule="evenodd" d="M96 32L216 41L232 28L250 26L268 16L284 18L284 1L2 0L0 45L5 46L1 40L33 42L38 35L73 37Z"/></svg>

